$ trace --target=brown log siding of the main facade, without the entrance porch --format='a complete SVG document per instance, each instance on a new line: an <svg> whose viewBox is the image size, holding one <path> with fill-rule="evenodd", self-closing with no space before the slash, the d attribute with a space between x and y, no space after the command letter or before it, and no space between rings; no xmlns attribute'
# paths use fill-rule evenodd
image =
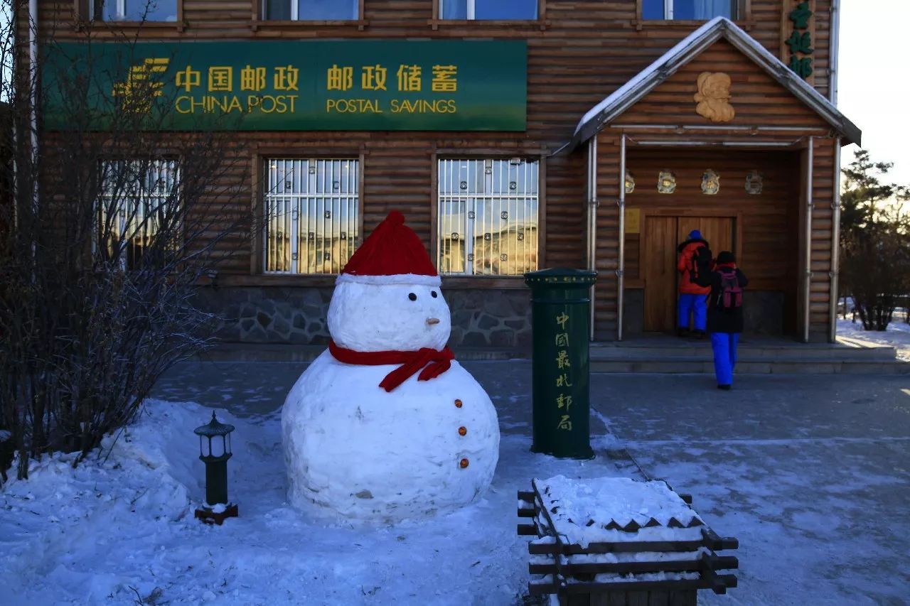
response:
<svg viewBox="0 0 910 606"><path fill-rule="evenodd" d="M86 33L75 26L74 14L86 0L45 2L39 0L42 35L76 40ZM750 0L750 14L740 24L774 54L781 40L781 2ZM827 3L817 2L819 21L815 85L826 94L827 38L823 14ZM253 176L258 158L271 152L300 155L356 153L364 158L361 204L364 229L374 227L392 207L408 216L425 244L430 245L432 157L439 150L465 154L542 157L564 144L579 119L591 106L634 76L653 59L688 35L697 22L635 23L637 4L624 1L541 1L541 19L535 22L446 22L434 21L429 0L362 0L362 19L348 24L268 23L255 18L256 0L180 0L178 24L148 24L138 32L141 40L274 40L311 38L421 37L526 39L528 56L528 128L525 133L427 133L427 132L262 132L239 133L244 146L238 150L236 181L256 201ZM129 30L127 30L129 31ZM96 27L98 39L116 39L116 29ZM687 108L688 111L688 108ZM615 158L602 142L602 161ZM585 225L585 175L583 150L547 160L546 216L541 217L546 238L541 257L546 266L584 267L585 250L579 233ZM610 178L602 179L602 187ZM246 202L245 202L246 203ZM605 205L602 216L607 217ZM238 208L244 212L247 208ZM607 221L606 218L603 219ZM612 230L612 231L611 231ZM602 226L599 239L604 252L615 248L615 224ZM235 256L229 273L254 278L257 266L254 247ZM609 262L608 262L609 265ZM251 270L252 269L252 270ZM251 276L252 274L252 276ZM293 277L295 284L312 278ZM517 280L521 282L521 280ZM482 284L482 280L477 284ZM604 283L602 282L602 287Z"/></svg>

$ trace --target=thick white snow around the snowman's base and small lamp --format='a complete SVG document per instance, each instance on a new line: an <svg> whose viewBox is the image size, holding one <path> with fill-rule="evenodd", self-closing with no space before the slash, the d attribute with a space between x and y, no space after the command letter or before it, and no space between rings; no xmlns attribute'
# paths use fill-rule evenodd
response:
<svg viewBox="0 0 910 606"><path fill-rule="evenodd" d="M325 526L288 506L278 414L237 427L228 490L240 517L193 518L204 497L192 429L210 409L150 400L109 457L32 464L0 490L0 602L28 604L512 604L528 581L516 490L531 478L616 475L609 460L555 460L504 435L485 498L383 528ZM601 440L602 441L602 440ZM109 444L108 444L109 446Z"/></svg>

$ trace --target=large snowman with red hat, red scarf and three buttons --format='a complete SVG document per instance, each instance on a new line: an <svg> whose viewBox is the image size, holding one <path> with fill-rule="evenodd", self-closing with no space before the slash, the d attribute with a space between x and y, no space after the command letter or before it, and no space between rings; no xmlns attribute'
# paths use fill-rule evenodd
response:
<svg viewBox="0 0 910 606"><path fill-rule="evenodd" d="M496 409L446 347L450 330L430 256L392 211L339 275L329 349L281 411L292 505L395 522L486 490L499 459Z"/></svg>

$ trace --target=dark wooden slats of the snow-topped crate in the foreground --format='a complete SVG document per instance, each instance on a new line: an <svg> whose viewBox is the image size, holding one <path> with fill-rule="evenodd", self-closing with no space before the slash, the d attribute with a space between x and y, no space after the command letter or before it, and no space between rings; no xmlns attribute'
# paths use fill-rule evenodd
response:
<svg viewBox="0 0 910 606"><path fill-rule="evenodd" d="M667 527L700 527L701 536L698 539L623 538L581 545L568 540L561 534L559 525L554 523L551 513L557 508L548 508L552 502L558 501L559 496L545 495L537 480L531 482L531 490L520 490L518 493L518 515L523 520L530 520L529 523L519 524L518 533L537 537L528 544L531 554L528 571L534 575L528 583L531 595L554 594L561 606L638 603L694 606L700 589L726 593L727 589L737 586L735 575L718 574L717 571L737 569L739 561L733 556L718 556L715 551L737 549L739 541L719 537L703 526L697 516L688 524L676 521ZM687 503L690 501L686 500ZM607 530L636 534L642 529L661 526L654 519L642 526L634 520L624 525L615 520L587 522L588 526L594 524ZM603 554L613 557L599 558ZM654 580L655 576L673 574L678 574L680 578ZM598 575L612 576L609 581L604 581L604 577Z"/></svg>

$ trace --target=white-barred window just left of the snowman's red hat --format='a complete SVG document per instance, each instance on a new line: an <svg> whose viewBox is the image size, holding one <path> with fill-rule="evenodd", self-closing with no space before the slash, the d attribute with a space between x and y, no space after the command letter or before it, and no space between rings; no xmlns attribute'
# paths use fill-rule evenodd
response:
<svg viewBox="0 0 910 606"><path fill-rule="evenodd" d="M265 161L264 271L338 274L359 244L359 161Z"/></svg>

